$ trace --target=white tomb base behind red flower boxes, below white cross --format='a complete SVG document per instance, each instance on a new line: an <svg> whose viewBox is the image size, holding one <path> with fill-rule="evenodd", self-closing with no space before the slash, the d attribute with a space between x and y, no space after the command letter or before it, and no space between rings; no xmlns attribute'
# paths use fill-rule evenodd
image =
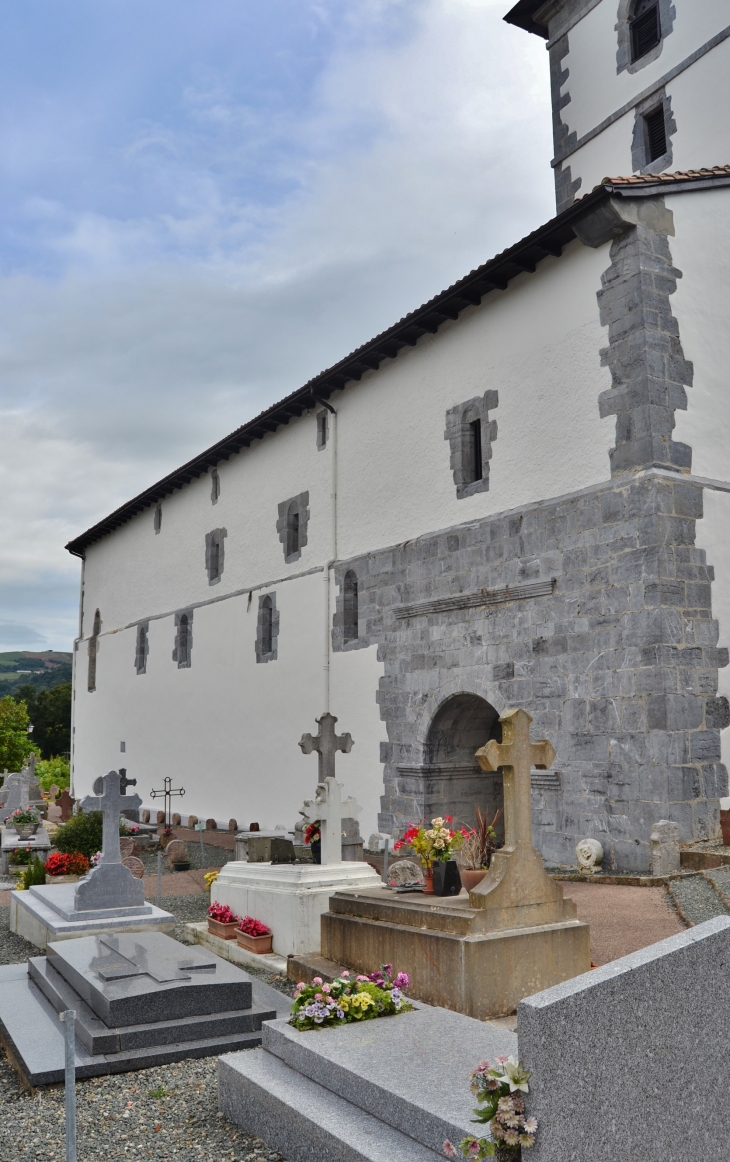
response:
<svg viewBox="0 0 730 1162"><path fill-rule="evenodd" d="M320 919L332 892L377 888L370 863L227 863L212 896L237 916L253 916L273 933L279 956L319 952Z"/></svg>

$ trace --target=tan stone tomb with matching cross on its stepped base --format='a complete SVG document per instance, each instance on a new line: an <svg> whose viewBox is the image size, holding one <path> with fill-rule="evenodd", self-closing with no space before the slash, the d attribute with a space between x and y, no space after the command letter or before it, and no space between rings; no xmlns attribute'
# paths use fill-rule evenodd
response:
<svg viewBox="0 0 730 1162"><path fill-rule="evenodd" d="M506 841L468 898L337 891L322 917L323 957L359 973L398 964L411 996L479 1019L507 1016L531 992L589 970L588 926L532 847L530 768L550 767L554 752L530 740L531 720L507 711L502 741L477 751L482 770L502 772ZM291 971L299 967L291 962Z"/></svg>

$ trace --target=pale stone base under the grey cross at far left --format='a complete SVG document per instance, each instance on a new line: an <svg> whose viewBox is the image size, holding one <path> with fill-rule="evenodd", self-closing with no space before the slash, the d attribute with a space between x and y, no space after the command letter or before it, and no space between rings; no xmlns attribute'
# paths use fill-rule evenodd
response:
<svg viewBox="0 0 730 1162"><path fill-rule="evenodd" d="M57 884L46 887L44 892L63 892L76 884ZM109 912L113 910L109 909ZM124 911L121 909L120 911ZM107 914L105 917L83 918L77 913L73 919L65 919L46 899L33 891L10 892L10 932L29 940L36 948L45 948L52 940L73 940L78 937L95 937L103 933L121 932L164 932L174 935L174 916L153 904L146 904L142 910L130 910L133 914Z"/></svg>

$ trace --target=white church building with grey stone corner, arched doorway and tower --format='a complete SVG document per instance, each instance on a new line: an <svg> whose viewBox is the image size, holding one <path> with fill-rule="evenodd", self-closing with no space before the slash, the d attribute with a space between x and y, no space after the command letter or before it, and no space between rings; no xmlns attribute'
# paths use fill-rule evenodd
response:
<svg viewBox="0 0 730 1162"><path fill-rule="evenodd" d="M122 765L149 806L169 774L187 811L292 826L329 710L365 837L471 822L501 802L474 751L522 706L557 752L532 783L549 863L591 835L646 868L660 818L718 835L723 7L520 0L557 216L67 546L77 795Z"/></svg>

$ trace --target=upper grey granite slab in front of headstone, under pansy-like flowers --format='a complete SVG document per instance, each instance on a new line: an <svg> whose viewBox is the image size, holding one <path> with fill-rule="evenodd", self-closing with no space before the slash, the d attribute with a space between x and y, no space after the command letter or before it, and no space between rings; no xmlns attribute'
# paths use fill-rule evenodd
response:
<svg viewBox="0 0 730 1162"><path fill-rule="evenodd" d="M517 1053L509 1030L428 1005L305 1033L288 1021L269 1021L262 1045L301 1076L436 1153L446 1138L460 1141L473 1133L472 1069L485 1057Z"/></svg>

